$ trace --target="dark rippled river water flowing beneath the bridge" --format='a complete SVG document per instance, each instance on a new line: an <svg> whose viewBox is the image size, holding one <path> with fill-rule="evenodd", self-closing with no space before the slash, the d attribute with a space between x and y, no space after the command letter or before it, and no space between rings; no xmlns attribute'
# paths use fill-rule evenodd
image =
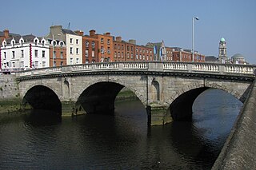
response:
<svg viewBox="0 0 256 170"><path fill-rule="evenodd" d="M61 121L0 115L0 169L210 169L242 107L209 89L194 102L192 122L148 127L140 101L115 105L114 116Z"/></svg>

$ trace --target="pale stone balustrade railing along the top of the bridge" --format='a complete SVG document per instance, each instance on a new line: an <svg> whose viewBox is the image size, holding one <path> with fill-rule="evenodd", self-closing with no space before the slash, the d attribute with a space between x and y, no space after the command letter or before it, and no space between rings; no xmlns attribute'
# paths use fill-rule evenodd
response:
<svg viewBox="0 0 256 170"><path fill-rule="evenodd" d="M102 62L84 65L66 65L62 67L50 67L42 69L30 69L17 72L18 77L28 77L42 74L70 73L70 72L98 72L108 71L158 71L158 72L184 72L184 73L214 73L222 75L246 74L254 75L256 65L224 65L218 63L196 63L196 62Z"/></svg>

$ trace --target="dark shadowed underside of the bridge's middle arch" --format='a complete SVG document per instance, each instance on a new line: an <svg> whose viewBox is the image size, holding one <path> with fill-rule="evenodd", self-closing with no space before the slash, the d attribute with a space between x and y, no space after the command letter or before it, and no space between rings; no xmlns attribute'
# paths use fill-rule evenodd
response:
<svg viewBox="0 0 256 170"><path fill-rule="evenodd" d="M114 114L114 101L123 87L114 82L90 85L78 97L75 112Z"/></svg>

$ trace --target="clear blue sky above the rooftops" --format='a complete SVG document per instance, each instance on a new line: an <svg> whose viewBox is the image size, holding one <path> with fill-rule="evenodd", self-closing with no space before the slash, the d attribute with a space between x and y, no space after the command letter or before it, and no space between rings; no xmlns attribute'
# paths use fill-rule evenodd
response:
<svg viewBox="0 0 256 170"><path fill-rule="evenodd" d="M256 0L0 0L0 30L44 37L61 25L89 34L110 32L138 45L162 42L218 57L226 39L227 55L242 53L256 64Z"/></svg>

